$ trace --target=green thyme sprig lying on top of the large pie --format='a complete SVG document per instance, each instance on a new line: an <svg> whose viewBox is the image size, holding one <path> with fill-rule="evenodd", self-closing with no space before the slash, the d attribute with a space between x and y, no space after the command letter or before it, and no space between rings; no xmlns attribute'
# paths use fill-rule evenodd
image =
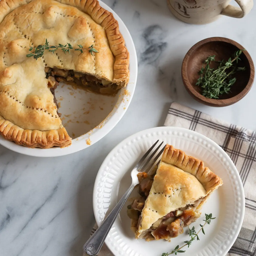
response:
<svg viewBox="0 0 256 256"><path fill-rule="evenodd" d="M52 53L54 53L56 50L61 48L61 50L66 54L67 52L70 54L70 50L75 50L75 51L80 51L83 53L83 46L82 45L77 45L78 47L73 47L71 44L67 43L66 45L49 45L49 42L45 41L44 45L38 45L35 47L29 46L29 51L30 53L27 54L27 57L33 57L34 59L38 59L44 55L45 50L48 50ZM34 51L32 51L34 49ZM92 54L92 52L98 52L96 49L93 48L93 45L91 45L89 48L89 52Z"/></svg>

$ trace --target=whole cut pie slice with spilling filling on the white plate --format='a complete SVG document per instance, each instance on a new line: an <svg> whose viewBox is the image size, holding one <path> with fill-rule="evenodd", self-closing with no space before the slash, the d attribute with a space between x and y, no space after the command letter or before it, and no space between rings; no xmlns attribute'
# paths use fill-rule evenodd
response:
<svg viewBox="0 0 256 256"><path fill-rule="evenodd" d="M200 217L200 209L222 180L204 162L166 145L156 174L139 173L139 193L127 207L137 238L170 240Z"/></svg>

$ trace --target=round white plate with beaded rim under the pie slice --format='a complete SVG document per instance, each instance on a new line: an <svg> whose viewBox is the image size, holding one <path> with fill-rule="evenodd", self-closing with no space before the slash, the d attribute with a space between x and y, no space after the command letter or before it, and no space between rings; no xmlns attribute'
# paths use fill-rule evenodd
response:
<svg viewBox="0 0 256 256"><path fill-rule="evenodd" d="M236 240L242 226L245 198L239 173L230 157L214 141L197 132L179 127L156 127L138 132L119 143L105 158L95 180L93 190L94 216L99 226L122 197L131 184L130 171L156 140L164 141L204 161L214 173L223 180L202 208L201 217L192 225L198 230L204 223L204 213L212 213L216 219L204 228L205 235L200 233L199 241L193 241L182 256L220 256L225 255ZM188 240L187 230L167 241L146 242L136 240L130 230L130 219L126 215L126 206L131 204L132 197L137 195L135 188L131 199L127 200L105 243L116 256L161 256L170 252L178 244ZM191 226L192 227L192 226Z"/></svg>

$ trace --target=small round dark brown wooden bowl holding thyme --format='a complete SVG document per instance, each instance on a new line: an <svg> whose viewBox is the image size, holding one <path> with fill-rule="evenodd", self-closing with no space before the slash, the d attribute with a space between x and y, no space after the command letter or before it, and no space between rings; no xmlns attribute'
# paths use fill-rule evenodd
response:
<svg viewBox="0 0 256 256"><path fill-rule="evenodd" d="M189 94L197 101L215 107L228 106L241 100L251 89L254 80L254 65L247 51L242 52L241 61L238 62L238 65L245 67L246 70L235 73L237 81L228 94L223 93L219 99L206 98L201 95L201 87L197 86L196 82L199 78L198 71L206 58L215 55L216 61L227 61L235 51L243 49L244 47L237 42L224 37L207 38L192 46L182 63L182 80Z"/></svg>

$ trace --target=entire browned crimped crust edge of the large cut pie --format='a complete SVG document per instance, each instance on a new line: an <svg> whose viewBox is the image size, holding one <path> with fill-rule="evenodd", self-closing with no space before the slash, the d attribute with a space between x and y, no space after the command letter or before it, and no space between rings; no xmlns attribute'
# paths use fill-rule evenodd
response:
<svg viewBox="0 0 256 256"><path fill-rule="evenodd" d="M30 3L32 0L1 0L0 1L0 23L6 15L20 5ZM129 52L125 47L125 41L119 31L118 21L113 14L102 8L97 0L57 0L63 4L78 7L89 14L92 19L101 25L108 37L110 49L115 56L113 82L125 87L130 78ZM9 141L26 147L50 148L53 146L66 147L71 144L65 128L50 131L24 130L12 122L0 116L0 134Z"/></svg>

